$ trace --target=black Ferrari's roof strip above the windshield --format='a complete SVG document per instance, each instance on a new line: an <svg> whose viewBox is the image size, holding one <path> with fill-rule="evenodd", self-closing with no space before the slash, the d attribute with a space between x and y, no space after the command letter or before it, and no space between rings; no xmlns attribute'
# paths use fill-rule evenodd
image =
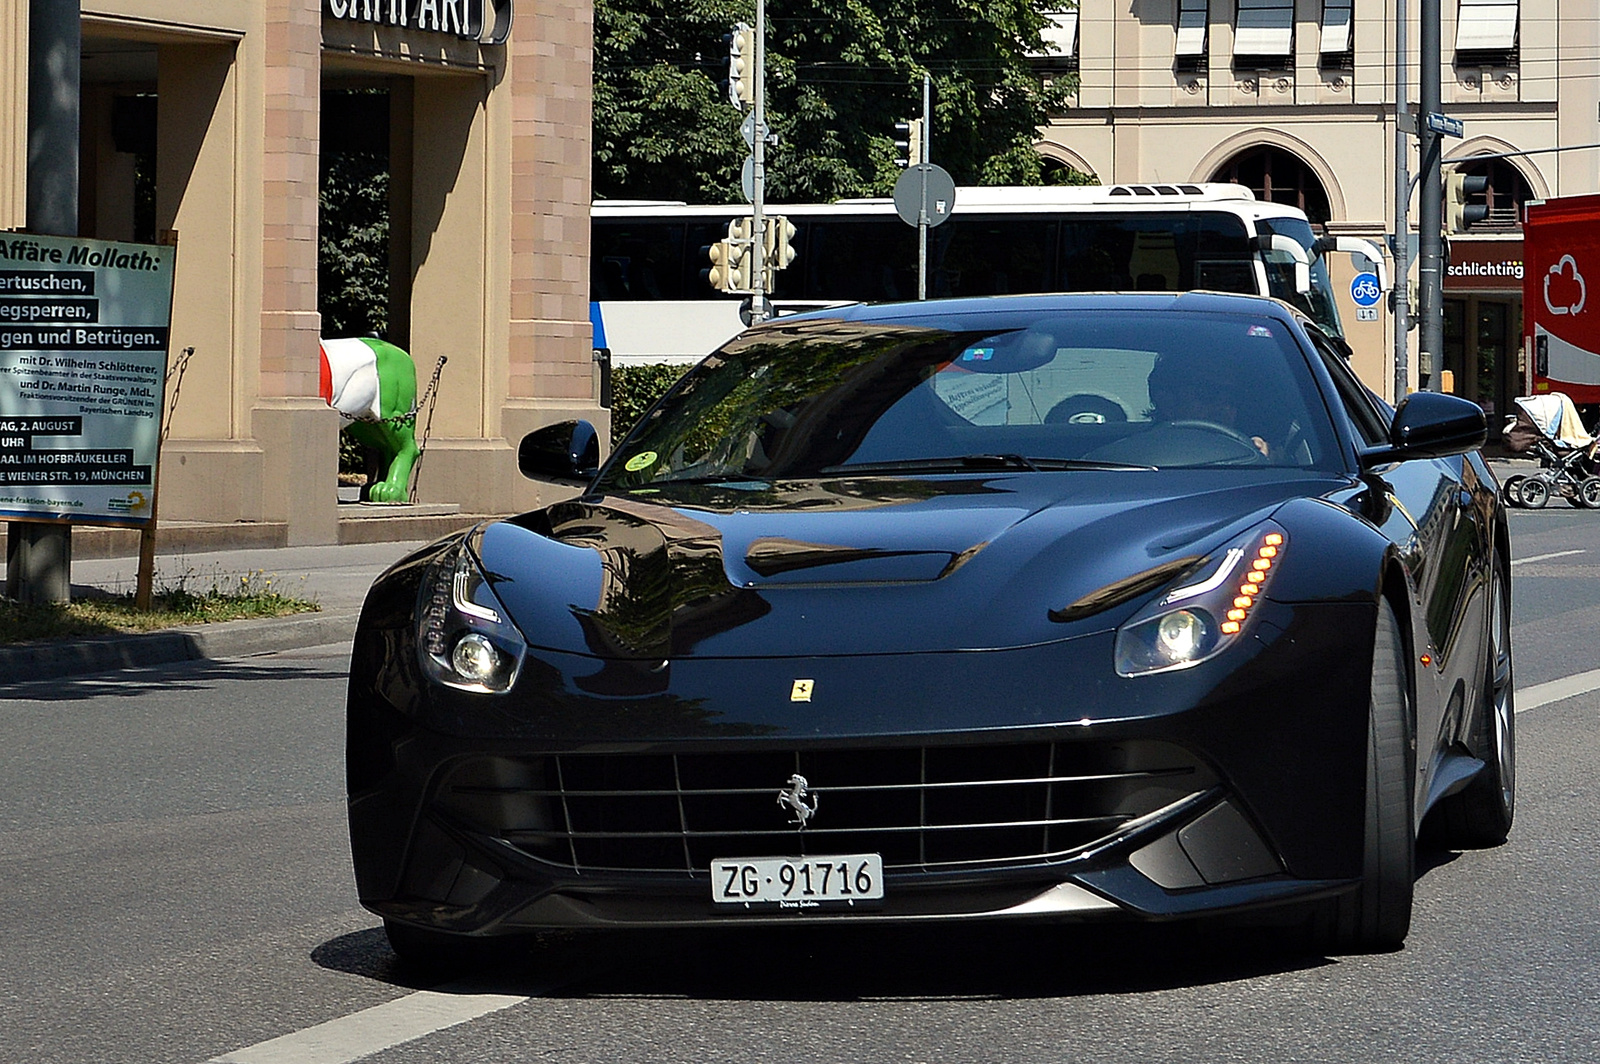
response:
<svg viewBox="0 0 1600 1064"><path fill-rule="evenodd" d="M1301 315L1286 302L1269 296L1245 296L1221 291L1094 291L1051 293L1038 296L966 296L957 299L926 299L922 302L856 302L805 314L771 318L770 323L795 323L805 320L845 320L899 323L920 318L950 320L966 315L1029 315L1048 312L1104 312L1133 310L1138 314L1240 314L1272 317L1280 322L1298 322Z"/></svg>

